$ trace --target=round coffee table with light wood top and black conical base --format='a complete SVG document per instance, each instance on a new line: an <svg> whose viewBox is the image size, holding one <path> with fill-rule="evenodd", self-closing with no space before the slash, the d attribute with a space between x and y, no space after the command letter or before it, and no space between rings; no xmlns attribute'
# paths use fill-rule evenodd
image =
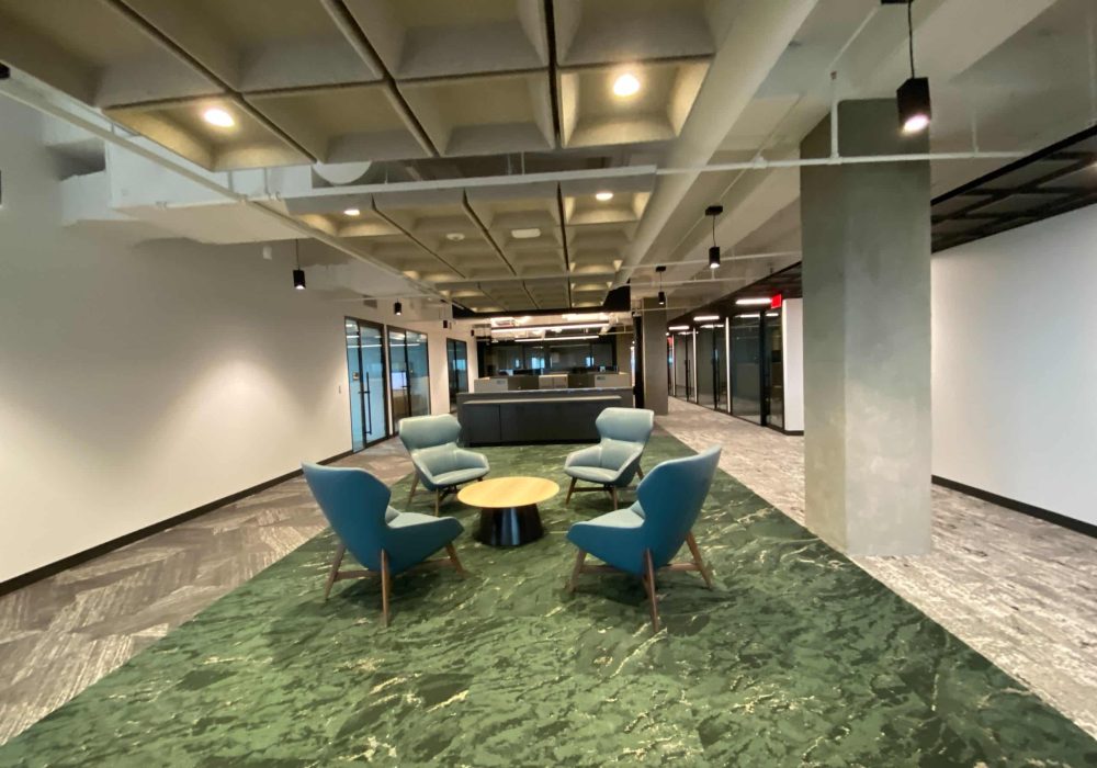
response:
<svg viewBox="0 0 1097 768"><path fill-rule="evenodd" d="M521 546L545 534L538 504L559 493L543 477L495 477L466 485L457 500L480 508L475 538L491 546Z"/></svg>

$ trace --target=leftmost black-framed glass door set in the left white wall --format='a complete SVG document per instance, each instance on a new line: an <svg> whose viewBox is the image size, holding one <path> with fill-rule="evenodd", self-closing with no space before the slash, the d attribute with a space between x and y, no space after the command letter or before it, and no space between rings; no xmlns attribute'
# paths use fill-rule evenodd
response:
<svg viewBox="0 0 1097 768"><path fill-rule="evenodd" d="M348 317L344 330L351 448L361 451L388 437L384 342L382 327L373 323Z"/></svg>

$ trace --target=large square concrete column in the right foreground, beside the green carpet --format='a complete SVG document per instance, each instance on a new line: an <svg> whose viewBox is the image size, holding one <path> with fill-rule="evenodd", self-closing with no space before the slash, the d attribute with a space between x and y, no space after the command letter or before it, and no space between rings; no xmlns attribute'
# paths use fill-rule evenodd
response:
<svg viewBox="0 0 1097 768"><path fill-rule="evenodd" d="M838 105L841 155L914 154L891 99ZM830 154L830 121L801 156ZM928 552L929 163L802 168L806 519L859 555Z"/></svg>

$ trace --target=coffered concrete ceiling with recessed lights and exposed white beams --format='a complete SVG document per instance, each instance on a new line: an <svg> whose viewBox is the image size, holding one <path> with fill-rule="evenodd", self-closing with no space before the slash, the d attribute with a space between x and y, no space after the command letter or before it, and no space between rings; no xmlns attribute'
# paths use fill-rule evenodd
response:
<svg viewBox="0 0 1097 768"><path fill-rule="evenodd" d="M1097 118L1092 0L913 10L935 151ZM795 159L833 99L893 95L906 57L905 8L879 0L0 0L3 63L203 172L314 166L264 183L270 205L479 310L653 294L660 263L703 303L795 261L795 168L697 169ZM935 189L1004 162L935 162ZM233 239L225 210L140 211ZM240 239L264 231L248 216Z"/></svg>

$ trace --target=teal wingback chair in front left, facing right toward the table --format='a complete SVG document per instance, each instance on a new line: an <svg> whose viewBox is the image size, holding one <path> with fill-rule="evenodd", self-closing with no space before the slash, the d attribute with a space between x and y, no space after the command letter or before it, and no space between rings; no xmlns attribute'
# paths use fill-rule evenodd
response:
<svg viewBox="0 0 1097 768"><path fill-rule="evenodd" d="M453 540L464 530L455 519L393 509L388 506L392 498L388 486L365 470L319 464L302 464L301 468L324 517L339 537L324 585L325 600L336 581L381 574L381 610L388 626L393 576L416 566L452 566L459 575L465 575L453 549ZM448 558L427 560L443 547ZM339 571L347 550L366 571Z"/></svg>

